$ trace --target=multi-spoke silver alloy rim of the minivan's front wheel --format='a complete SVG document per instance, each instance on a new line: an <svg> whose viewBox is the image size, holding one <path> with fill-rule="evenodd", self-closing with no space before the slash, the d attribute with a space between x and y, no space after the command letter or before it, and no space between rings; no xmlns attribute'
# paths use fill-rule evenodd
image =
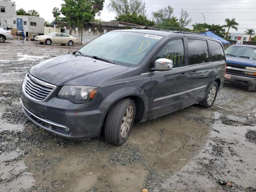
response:
<svg viewBox="0 0 256 192"><path fill-rule="evenodd" d="M124 138L128 134L128 132L131 128L131 125L132 125L132 119L133 119L133 107L129 106L126 109L126 112L124 114L122 124L121 124L120 133L121 133L122 138Z"/></svg>

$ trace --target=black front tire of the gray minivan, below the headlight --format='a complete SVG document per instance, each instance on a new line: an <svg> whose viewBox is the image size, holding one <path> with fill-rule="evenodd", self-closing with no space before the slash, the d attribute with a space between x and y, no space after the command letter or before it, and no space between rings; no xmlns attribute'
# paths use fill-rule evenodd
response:
<svg viewBox="0 0 256 192"><path fill-rule="evenodd" d="M121 136L121 125L126 125L126 122L124 122L124 118L126 116L126 110L129 110L130 106L133 108L133 114L132 114L132 120L130 125L130 128L128 132L126 132L126 135ZM136 113L136 105L134 101L130 98L125 98L122 100L119 100L114 106L112 106L108 112L108 115L106 117L106 123L105 123L105 130L104 135L105 139L114 144L114 145L122 145L129 137L130 132L132 130L132 126L134 124L135 114ZM128 118L127 118L128 119Z"/></svg>

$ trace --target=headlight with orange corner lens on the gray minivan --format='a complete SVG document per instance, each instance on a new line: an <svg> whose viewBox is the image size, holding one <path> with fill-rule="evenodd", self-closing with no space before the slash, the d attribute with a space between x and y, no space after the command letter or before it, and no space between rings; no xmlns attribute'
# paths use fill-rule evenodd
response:
<svg viewBox="0 0 256 192"><path fill-rule="evenodd" d="M73 103L86 103L93 100L98 87L65 85L58 93L58 97Z"/></svg>

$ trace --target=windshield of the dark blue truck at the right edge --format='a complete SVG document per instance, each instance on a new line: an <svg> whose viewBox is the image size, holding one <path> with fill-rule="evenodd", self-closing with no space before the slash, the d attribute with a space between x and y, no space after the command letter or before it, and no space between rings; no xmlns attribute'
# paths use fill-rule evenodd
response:
<svg viewBox="0 0 256 192"><path fill-rule="evenodd" d="M256 48L244 46L230 46L225 51L226 56L256 59Z"/></svg>

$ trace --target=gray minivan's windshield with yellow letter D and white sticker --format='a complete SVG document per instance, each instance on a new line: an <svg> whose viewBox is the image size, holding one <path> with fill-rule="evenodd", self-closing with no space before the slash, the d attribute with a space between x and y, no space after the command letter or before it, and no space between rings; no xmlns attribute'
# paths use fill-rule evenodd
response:
<svg viewBox="0 0 256 192"><path fill-rule="evenodd" d="M162 36L145 33L112 31L92 40L78 53L115 64L136 66L161 39Z"/></svg>

